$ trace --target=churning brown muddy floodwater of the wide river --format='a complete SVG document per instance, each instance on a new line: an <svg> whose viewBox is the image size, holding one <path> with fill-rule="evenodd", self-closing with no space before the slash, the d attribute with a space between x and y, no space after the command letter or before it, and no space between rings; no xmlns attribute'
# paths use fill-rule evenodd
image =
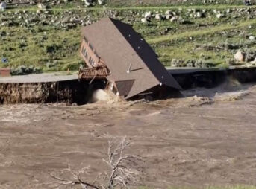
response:
<svg viewBox="0 0 256 189"><path fill-rule="evenodd" d="M49 188L49 173L82 162L91 182L106 170L107 133L127 135L145 159L137 185L256 185L256 87L247 87L152 103L0 106L0 188Z"/></svg>

